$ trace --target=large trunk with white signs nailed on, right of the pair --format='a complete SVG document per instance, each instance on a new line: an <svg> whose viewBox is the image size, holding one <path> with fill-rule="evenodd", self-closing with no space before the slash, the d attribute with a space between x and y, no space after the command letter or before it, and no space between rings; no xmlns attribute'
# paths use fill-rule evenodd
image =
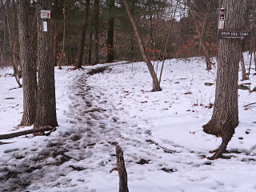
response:
<svg viewBox="0 0 256 192"><path fill-rule="evenodd" d="M39 0L38 10L52 10L52 0ZM40 13L40 11L38 11ZM44 32L42 22L48 23ZM54 85L53 26L51 19L38 14L38 103L34 128L58 126Z"/></svg>

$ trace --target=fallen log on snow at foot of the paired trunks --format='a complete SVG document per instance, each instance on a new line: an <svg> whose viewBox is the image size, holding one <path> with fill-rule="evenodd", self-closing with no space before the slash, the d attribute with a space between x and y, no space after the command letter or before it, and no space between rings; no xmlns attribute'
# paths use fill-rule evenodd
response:
<svg viewBox="0 0 256 192"><path fill-rule="evenodd" d="M34 134L34 133L42 133L45 131L50 131L50 130L54 130L54 127L51 126L46 126L46 127L42 127L42 128L38 128L38 129L32 129L32 130L22 130L22 131L18 131L12 134L0 134L0 140L1 139L8 139L8 138L16 138L22 135L26 135L26 134Z"/></svg>

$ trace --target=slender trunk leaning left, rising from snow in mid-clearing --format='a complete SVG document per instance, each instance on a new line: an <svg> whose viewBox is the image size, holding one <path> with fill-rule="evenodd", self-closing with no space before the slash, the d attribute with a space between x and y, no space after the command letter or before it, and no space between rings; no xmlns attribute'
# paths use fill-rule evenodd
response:
<svg viewBox="0 0 256 192"><path fill-rule="evenodd" d="M126 0L122 0L122 2L124 3L124 5L126 7L126 11L127 11L127 14L130 18L130 22L131 22L132 26L134 27L134 32L135 32L135 35L138 39L138 45L139 45L139 48L142 52L143 60L144 60L144 62L146 62L146 66L148 67L148 69L150 71L151 78L153 79L153 90L152 91L160 91L161 88L160 88L160 85L159 85L159 82L158 82L158 77L154 72L154 67L152 66L152 63L150 62L149 58L146 55L145 46L144 46L144 43L142 42L141 34L138 31L138 26L135 22L134 15L131 14L130 6L126 2Z"/></svg>

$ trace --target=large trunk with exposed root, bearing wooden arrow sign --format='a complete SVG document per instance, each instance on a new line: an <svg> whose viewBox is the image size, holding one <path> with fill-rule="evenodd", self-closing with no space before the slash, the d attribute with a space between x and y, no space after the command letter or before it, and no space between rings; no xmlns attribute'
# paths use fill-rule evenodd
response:
<svg viewBox="0 0 256 192"><path fill-rule="evenodd" d="M224 30L242 30L243 1L224 0L226 23ZM226 148L238 126L238 68L242 52L241 40L221 39L218 46L218 70L215 90L214 114L203 130L222 137L222 146L214 159ZM225 146L225 147L223 147ZM222 151L221 151L222 152Z"/></svg>

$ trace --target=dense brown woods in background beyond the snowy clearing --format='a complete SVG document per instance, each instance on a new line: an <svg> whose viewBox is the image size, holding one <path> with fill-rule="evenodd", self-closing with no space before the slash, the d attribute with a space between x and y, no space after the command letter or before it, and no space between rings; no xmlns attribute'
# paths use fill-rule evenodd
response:
<svg viewBox="0 0 256 192"><path fill-rule="evenodd" d="M142 54L133 27L120 0L54 0L54 65L94 65L114 60L140 61ZM133 0L132 13L150 60L204 56L218 52L218 0ZM0 7L1 64L12 64L18 73L18 1L2 0ZM32 2L35 12L37 1ZM244 25L250 30L254 1L246 0ZM175 16L174 16L175 15ZM170 42L165 43L171 26ZM34 38L37 36L33 30ZM34 41L34 47L36 41ZM251 50L247 42L244 50ZM21 74L18 74L19 76Z"/></svg>

